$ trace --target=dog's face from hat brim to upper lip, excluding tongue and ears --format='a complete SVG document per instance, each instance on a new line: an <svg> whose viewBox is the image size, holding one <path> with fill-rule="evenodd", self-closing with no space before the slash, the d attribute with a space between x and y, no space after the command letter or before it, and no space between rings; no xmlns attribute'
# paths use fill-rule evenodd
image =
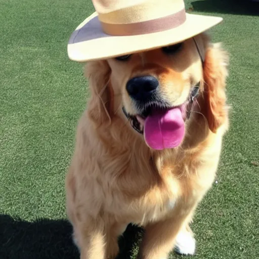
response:
<svg viewBox="0 0 259 259"><path fill-rule="evenodd" d="M193 39L176 45L108 60L111 84L127 113L146 118L152 109L169 109L187 101L202 78Z"/></svg>

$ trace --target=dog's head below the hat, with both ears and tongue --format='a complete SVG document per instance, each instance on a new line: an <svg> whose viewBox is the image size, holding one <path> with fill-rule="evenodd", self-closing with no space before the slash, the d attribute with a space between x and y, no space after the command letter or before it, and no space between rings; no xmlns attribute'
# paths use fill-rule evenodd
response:
<svg viewBox="0 0 259 259"><path fill-rule="evenodd" d="M178 146L192 107L191 93L200 85L196 111L215 133L225 119L226 65L225 52L210 44L205 34L168 47L90 62L90 117L101 125L118 115L132 121L128 126L143 130L152 148Z"/></svg>

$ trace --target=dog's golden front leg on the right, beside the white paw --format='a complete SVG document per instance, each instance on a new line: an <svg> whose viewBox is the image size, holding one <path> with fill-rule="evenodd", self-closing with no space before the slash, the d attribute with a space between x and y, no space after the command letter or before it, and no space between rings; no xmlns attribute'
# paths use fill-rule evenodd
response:
<svg viewBox="0 0 259 259"><path fill-rule="evenodd" d="M166 219L148 224L145 227L138 259L166 259L176 245L178 234L189 223L195 207L196 204L188 208L178 206Z"/></svg>

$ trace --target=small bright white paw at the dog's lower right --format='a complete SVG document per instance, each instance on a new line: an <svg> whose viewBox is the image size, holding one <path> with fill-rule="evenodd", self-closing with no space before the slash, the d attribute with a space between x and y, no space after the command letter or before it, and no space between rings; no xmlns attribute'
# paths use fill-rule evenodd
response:
<svg viewBox="0 0 259 259"><path fill-rule="evenodd" d="M195 253L195 238L190 232L180 232L176 238L175 250L180 254L191 254Z"/></svg>

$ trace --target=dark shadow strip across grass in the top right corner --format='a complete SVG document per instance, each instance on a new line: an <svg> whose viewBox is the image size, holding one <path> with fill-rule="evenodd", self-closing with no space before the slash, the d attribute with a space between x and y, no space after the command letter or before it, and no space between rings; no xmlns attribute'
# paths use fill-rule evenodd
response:
<svg viewBox="0 0 259 259"><path fill-rule="evenodd" d="M191 3L196 12L259 15L259 2L249 0L206 0Z"/></svg>

